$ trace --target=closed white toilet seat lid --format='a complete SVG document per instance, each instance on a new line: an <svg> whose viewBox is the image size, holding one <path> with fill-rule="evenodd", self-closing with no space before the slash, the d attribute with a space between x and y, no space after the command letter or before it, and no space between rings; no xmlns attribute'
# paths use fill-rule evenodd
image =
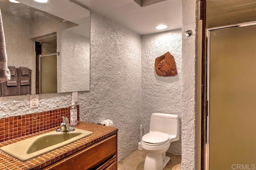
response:
<svg viewBox="0 0 256 170"><path fill-rule="evenodd" d="M150 132L142 136L142 142L150 146L165 144L169 140L170 136L163 132Z"/></svg>

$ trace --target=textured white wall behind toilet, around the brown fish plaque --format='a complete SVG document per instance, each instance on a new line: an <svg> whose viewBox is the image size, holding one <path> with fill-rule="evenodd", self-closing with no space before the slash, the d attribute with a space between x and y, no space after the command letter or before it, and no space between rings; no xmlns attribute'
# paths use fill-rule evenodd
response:
<svg viewBox="0 0 256 170"><path fill-rule="evenodd" d="M149 132L152 113L170 113L180 117L180 140L172 142L168 152L181 155L182 117L182 34L181 30L142 36L142 109L144 134ZM156 74L156 57L169 51L176 62L177 75L160 77Z"/></svg>

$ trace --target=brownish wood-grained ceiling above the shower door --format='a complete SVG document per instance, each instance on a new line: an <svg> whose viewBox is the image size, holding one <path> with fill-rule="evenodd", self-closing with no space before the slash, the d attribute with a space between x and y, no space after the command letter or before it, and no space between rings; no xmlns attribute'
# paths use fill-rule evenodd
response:
<svg viewBox="0 0 256 170"><path fill-rule="evenodd" d="M207 0L208 28L256 21L256 0Z"/></svg>

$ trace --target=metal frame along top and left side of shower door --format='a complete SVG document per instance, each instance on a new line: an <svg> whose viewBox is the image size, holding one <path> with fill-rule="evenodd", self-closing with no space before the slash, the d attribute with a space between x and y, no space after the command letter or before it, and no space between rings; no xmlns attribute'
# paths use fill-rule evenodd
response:
<svg viewBox="0 0 256 170"><path fill-rule="evenodd" d="M204 170L209 170L209 161L210 161L210 32L218 31L218 30L227 30L232 28L240 28L246 26L254 26L256 25L256 21L253 22L244 22L240 24L234 24L229 26L220 26L214 28L206 29L206 63L205 63L205 70L206 70L206 85L205 85L205 117L206 117L206 124L205 124L205 134L204 134L204 146L205 146L205 156L204 156Z"/></svg>

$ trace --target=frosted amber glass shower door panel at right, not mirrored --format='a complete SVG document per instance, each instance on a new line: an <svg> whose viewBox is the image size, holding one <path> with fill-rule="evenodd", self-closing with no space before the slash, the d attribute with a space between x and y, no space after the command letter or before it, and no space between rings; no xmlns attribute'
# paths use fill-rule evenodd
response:
<svg viewBox="0 0 256 170"><path fill-rule="evenodd" d="M210 31L209 61L209 169L255 169L256 25Z"/></svg>

